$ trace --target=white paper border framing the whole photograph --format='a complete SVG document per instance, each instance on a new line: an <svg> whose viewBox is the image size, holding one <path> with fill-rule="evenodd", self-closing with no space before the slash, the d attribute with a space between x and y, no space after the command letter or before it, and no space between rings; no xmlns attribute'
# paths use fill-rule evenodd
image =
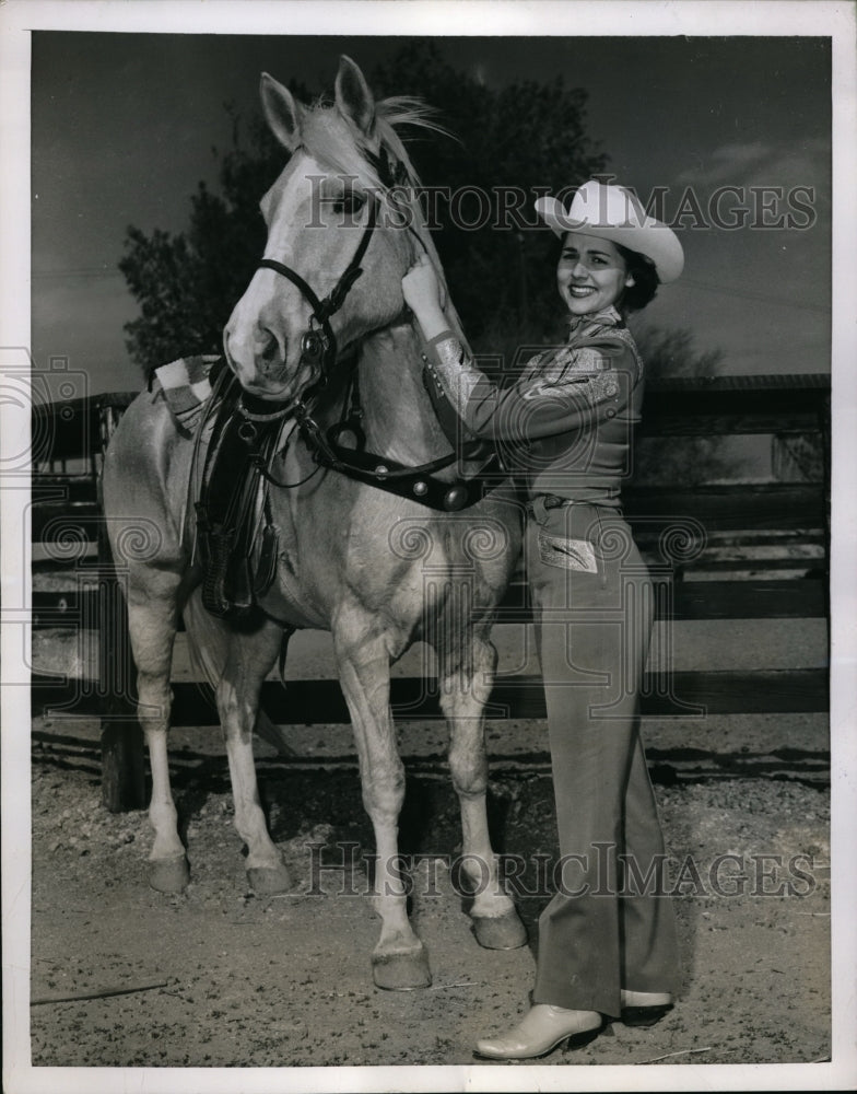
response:
<svg viewBox="0 0 857 1094"><path fill-rule="evenodd" d="M857 299L854 251L857 241L857 56L855 7L813 3L647 2L647 0L102 0L42 2L7 0L0 5L0 352L3 360L26 359L30 346L30 45L39 30L161 34L290 34L456 36L528 35L759 35L818 36L833 39L833 546L831 763L834 816L832 860L838 864L833 886L833 1062L817 1064L655 1064L646 1068L575 1068L579 1090L838 1090L857 1081L855 997L857 996L857 888L849 871L857 829L857 520L855 519L853 439L857 437ZM621 31L617 28L621 27ZM13 104L13 105L10 105ZM0 362L0 366L2 363ZM28 435L28 414L3 409L5 451L21 451ZM0 457L3 449L0 449ZM26 491L2 491L3 528L21 527ZM2 591L26 584L22 539L2 537ZM185 1091L560 1091L570 1082L566 1068L300 1068L300 1069L91 1069L32 1068L30 1063L30 724L28 689L20 653L2 648L2 928L4 1089L10 1094L50 1090L141 1094ZM22 676L21 673L24 673ZM407 1074L404 1073L407 1072ZM238 1078L239 1073L239 1078Z"/></svg>

